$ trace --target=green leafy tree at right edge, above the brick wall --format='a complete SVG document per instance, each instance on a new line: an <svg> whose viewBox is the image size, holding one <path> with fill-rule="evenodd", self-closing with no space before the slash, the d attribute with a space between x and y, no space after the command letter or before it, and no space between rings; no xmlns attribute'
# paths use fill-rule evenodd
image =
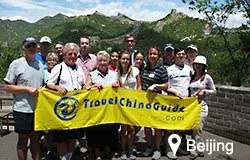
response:
<svg viewBox="0 0 250 160"><path fill-rule="evenodd" d="M223 48L225 49L226 54L219 55L220 57L218 59L224 61L220 62L220 65L217 66L228 66L231 68L231 72L227 74L229 81L234 86L241 86L245 76L248 74L247 68L249 67L248 60L250 57L249 43L246 43L245 41L247 40L247 42L249 42L250 37L249 0L226 0L225 2L211 0L182 1L188 3L190 9L197 10L199 13L204 14L205 19L215 28L214 30L216 33L214 34L219 35L222 38L222 42L224 42ZM248 23L242 25L242 27L239 27L238 29L226 28L226 22L229 17L237 13L243 13L248 19ZM222 57L224 57L224 59L222 59Z"/></svg>

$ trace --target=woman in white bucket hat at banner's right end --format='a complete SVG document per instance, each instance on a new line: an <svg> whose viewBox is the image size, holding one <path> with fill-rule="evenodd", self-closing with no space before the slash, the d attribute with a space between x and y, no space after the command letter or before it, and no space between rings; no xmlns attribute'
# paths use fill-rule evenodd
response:
<svg viewBox="0 0 250 160"><path fill-rule="evenodd" d="M208 104L205 96L215 94L216 89L212 77L206 73L207 59L204 56L197 56L193 62L194 75L189 85L191 96L198 96L199 102L202 103L200 127L193 132L193 138L198 143L204 143L202 137L203 126L208 115ZM190 159L196 159L198 156L203 157L203 152L192 151Z"/></svg>

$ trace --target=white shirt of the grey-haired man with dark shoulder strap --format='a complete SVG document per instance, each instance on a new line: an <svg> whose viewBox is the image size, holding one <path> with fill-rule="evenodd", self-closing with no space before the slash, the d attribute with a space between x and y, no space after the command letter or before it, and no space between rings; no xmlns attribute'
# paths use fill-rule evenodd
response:
<svg viewBox="0 0 250 160"><path fill-rule="evenodd" d="M59 78L60 69L62 71L60 75L59 86L63 86L67 91L79 90L82 88L82 84L85 84L85 75L81 67L76 65L75 69L67 66L64 62L57 64L52 70L49 76L47 84L56 84Z"/></svg>

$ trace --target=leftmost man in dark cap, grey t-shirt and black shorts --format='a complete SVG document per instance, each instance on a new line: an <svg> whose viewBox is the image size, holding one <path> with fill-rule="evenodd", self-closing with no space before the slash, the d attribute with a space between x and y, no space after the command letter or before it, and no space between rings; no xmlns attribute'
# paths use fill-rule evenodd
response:
<svg viewBox="0 0 250 160"><path fill-rule="evenodd" d="M18 133L17 155L27 159L28 140L34 160L40 159L39 132L34 131L34 110L38 88L43 86L43 65L35 59L37 42L28 37L23 41L24 56L14 60L4 78L4 88L13 93L15 132ZM35 76L34 76L35 75Z"/></svg>

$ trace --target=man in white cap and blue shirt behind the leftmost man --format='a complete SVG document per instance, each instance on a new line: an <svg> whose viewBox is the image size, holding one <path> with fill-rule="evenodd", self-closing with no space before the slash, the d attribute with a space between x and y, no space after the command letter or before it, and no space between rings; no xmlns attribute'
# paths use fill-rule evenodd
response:
<svg viewBox="0 0 250 160"><path fill-rule="evenodd" d="M42 62L44 69L47 69L46 56L50 51L51 39L48 36L43 36L40 39L40 52L36 53L36 60Z"/></svg>

